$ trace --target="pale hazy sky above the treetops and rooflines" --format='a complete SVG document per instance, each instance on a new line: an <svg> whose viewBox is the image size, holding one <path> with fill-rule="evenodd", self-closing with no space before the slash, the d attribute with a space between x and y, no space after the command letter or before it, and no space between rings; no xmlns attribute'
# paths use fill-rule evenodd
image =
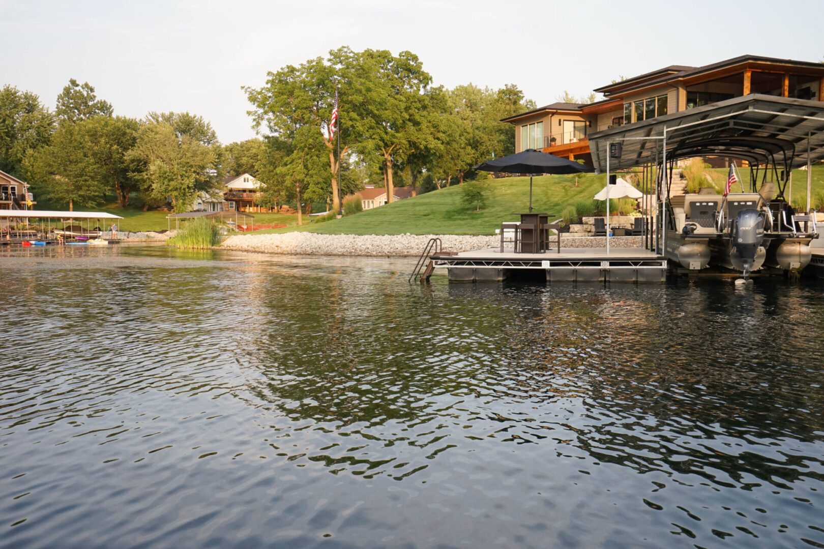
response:
<svg viewBox="0 0 824 549"><path fill-rule="evenodd" d="M54 109L69 78L88 81L115 114L189 111L230 143L255 137L241 86L343 45L409 50L435 85L515 84L546 105L672 64L822 61L822 16L821 0L0 0L0 86Z"/></svg>

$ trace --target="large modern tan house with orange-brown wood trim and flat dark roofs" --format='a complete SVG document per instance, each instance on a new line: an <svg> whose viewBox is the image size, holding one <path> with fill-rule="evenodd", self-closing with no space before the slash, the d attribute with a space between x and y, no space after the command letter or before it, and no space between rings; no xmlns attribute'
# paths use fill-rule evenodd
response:
<svg viewBox="0 0 824 549"><path fill-rule="evenodd" d="M824 100L824 64L742 55L704 67L671 65L596 88L586 105L551 103L502 120L515 128L515 151L536 148L591 161L589 133L751 93Z"/></svg>

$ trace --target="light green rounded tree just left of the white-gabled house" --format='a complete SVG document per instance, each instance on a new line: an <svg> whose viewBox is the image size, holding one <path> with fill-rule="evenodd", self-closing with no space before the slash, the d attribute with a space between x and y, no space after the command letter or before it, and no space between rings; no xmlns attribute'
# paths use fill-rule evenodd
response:
<svg viewBox="0 0 824 549"><path fill-rule="evenodd" d="M126 155L144 208L171 199L186 212L197 193L218 188L222 148L211 125L189 113L150 113Z"/></svg>

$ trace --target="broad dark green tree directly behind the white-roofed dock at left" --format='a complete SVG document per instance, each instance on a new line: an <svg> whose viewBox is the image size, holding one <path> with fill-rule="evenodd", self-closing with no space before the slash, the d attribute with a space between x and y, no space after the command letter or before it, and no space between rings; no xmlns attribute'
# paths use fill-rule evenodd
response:
<svg viewBox="0 0 824 549"><path fill-rule="evenodd" d="M101 173L91 155L87 133L74 123L63 122L46 147L30 151L23 167L35 188L50 202L74 207L96 207L106 191Z"/></svg>

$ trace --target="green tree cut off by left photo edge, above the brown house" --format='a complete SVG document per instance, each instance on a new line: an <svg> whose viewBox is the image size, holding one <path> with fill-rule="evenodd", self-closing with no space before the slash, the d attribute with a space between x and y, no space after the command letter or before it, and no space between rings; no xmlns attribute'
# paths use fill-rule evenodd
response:
<svg viewBox="0 0 824 549"><path fill-rule="evenodd" d="M30 91L0 90L0 170L21 177L26 151L48 144L54 115Z"/></svg>

